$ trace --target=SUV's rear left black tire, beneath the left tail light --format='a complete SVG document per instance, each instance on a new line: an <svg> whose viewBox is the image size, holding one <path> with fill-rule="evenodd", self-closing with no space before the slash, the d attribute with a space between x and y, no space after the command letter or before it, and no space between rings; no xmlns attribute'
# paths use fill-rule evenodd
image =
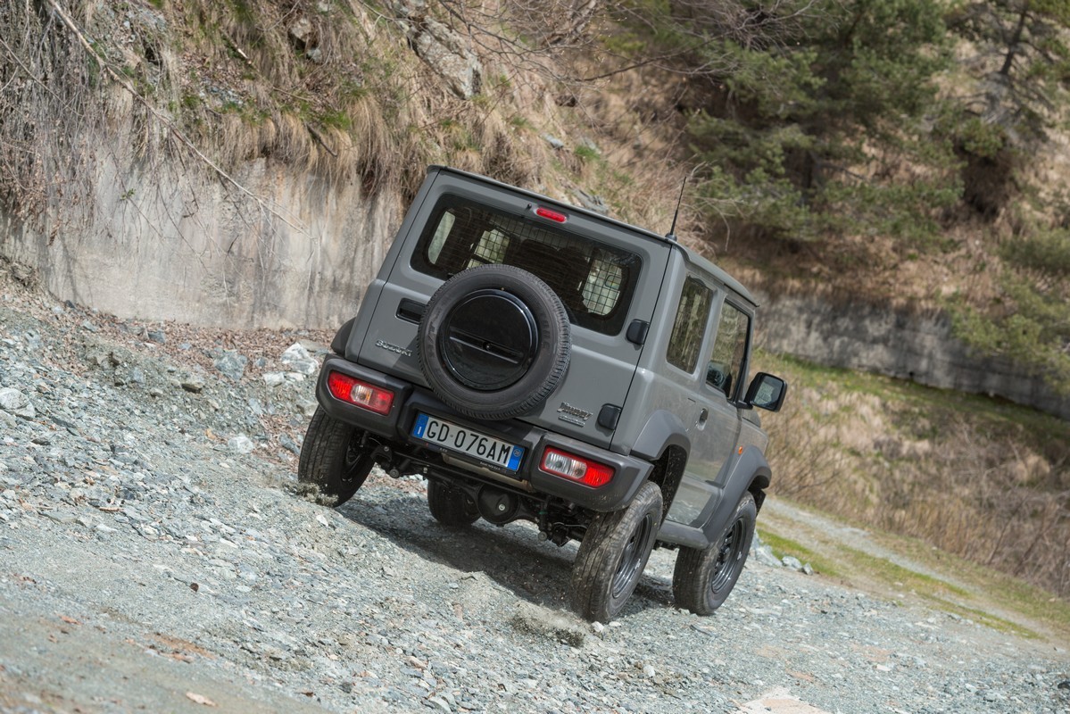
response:
<svg viewBox="0 0 1070 714"><path fill-rule="evenodd" d="M330 416L317 407L297 461L297 481L311 484L341 505L353 498L374 466L374 450L365 431Z"/></svg>

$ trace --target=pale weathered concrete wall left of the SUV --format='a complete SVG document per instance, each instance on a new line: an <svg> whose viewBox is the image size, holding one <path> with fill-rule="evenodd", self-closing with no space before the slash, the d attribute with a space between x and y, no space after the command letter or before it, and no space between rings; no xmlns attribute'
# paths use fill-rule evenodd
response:
<svg viewBox="0 0 1070 714"><path fill-rule="evenodd" d="M351 317L400 225L400 199L263 159L235 178L265 202L207 171L104 162L91 210L32 226L0 215L0 255L36 269L57 298L123 318L334 328Z"/></svg>

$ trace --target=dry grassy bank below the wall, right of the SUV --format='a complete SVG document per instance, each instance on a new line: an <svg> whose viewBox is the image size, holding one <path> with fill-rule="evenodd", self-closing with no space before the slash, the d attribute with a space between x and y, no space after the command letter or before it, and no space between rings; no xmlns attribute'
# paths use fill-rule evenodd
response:
<svg viewBox="0 0 1070 714"><path fill-rule="evenodd" d="M765 358L774 489L1070 598L1070 426L1029 409Z"/></svg>

